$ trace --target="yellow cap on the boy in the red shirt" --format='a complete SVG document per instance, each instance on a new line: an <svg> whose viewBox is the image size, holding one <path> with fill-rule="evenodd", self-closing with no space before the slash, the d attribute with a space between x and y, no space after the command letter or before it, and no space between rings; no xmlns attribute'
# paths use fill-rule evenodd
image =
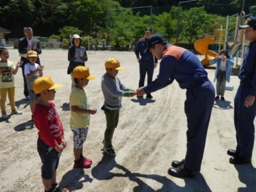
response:
<svg viewBox="0 0 256 192"><path fill-rule="evenodd" d="M50 76L43 76L43 77L38 77L34 81L34 83L32 85L32 90L36 94L39 94L39 93L42 93L43 91L60 88L62 86L63 85L61 85L61 84L54 83Z"/></svg>

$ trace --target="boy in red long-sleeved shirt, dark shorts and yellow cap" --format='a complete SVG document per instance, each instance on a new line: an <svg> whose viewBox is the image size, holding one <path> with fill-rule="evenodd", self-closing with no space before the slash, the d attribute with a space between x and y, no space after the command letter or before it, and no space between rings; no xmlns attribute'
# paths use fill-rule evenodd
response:
<svg viewBox="0 0 256 192"><path fill-rule="evenodd" d="M41 176L45 192L68 192L56 182L60 154L67 145L62 122L51 102L55 97L55 89L60 87L62 85L54 83L50 76L38 77L32 84L32 90L38 97L33 116L38 129L37 150L42 161Z"/></svg>

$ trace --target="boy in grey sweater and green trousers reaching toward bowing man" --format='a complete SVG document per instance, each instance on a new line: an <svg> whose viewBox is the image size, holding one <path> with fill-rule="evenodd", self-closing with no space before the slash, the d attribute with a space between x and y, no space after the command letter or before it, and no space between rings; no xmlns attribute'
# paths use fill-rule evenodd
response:
<svg viewBox="0 0 256 192"><path fill-rule="evenodd" d="M106 73L102 76L101 88L104 95L102 110L106 115L106 130L104 133L103 148L109 156L116 156L112 145L112 137L119 119L119 109L122 107L122 97L133 97L136 92L121 83L116 76L119 70L124 70L117 59L109 58L105 62Z"/></svg>

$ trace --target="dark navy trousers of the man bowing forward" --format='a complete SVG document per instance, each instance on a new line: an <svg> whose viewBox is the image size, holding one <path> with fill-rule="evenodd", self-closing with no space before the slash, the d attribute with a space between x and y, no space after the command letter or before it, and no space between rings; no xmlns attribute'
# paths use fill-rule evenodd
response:
<svg viewBox="0 0 256 192"><path fill-rule="evenodd" d="M215 90L210 81L187 88L185 113L188 130L187 152L184 166L191 171L200 171L206 135L214 104Z"/></svg>

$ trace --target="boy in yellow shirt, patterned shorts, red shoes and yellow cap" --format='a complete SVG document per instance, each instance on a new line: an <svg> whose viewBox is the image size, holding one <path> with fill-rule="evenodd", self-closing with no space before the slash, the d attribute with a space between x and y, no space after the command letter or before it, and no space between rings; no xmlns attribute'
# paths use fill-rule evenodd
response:
<svg viewBox="0 0 256 192"><path fill-rule="evenodd" d="M73 132L74 141L74 168L90 168L92 160L83 156L83 144L88 134L90 115L96 113L96 109L89 107L86 87L89 80L96 77L91 75L89 68L77 66L73 70L75 86L70 94L70 129Z"/></svg>

